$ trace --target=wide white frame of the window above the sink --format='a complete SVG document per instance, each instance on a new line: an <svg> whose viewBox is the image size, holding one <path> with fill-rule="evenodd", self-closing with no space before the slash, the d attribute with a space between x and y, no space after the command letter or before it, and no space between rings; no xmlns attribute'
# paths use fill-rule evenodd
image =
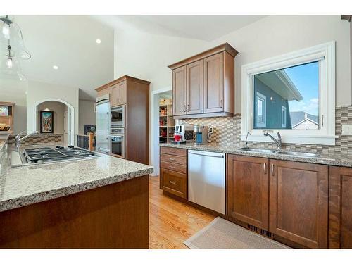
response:
<svg viewBox="0 0 352 264"><path fill-rule="evenodd" d="M283 143L334 145L335 139L335 42L327 42L308 49L268 58L263 61L242 65L241 68L241 139L249 141L270 142L263 136L263 129L253 129L253 80L254 75L271 70L319 61L319 130L272 130L282 135ZM270 117L268 117L270 118ZM270 129L271 130L271 129Z"/></svg>

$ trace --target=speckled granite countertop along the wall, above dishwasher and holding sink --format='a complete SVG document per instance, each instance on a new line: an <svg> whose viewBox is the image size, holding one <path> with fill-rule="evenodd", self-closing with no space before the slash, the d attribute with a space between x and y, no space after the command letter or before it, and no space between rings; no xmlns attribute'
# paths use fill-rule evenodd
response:
<svg viewBox="0 0 352 264"><path fill-rule="evenodd" d="M179 149L193 149L198 151L213 151L213 152L221 152L227 154L238 154L243 156L253 156L260 158L273 158L277 160L284 161L300 161L306 163L318 163L325 165L335 165L335 166L343 166L343 167L352 167L352 157L351 156L339 156L339 155L325 155L322 154L319 157L311 158L311 157L301 157L301 156L289 156L284 154L277 153L259 153L259 152L251 152L240 150L241 147L244 147L244 144L237 145L220 145L220 144L206 144L206 145L197 145L194 144L174 144L174 143L161 143L159 146L169 146L172 148ZM282 151L289 151L289 149L282 149Z"/></svg>

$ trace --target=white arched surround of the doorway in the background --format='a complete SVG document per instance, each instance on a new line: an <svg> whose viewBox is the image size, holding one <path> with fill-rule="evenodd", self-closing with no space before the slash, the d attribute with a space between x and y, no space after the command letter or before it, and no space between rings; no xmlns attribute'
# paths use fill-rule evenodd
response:
<svg viewBox="0 0 352 264"><path fill-rule="evenodd" d="M68 108L68 113L67 113L67 132L68 133L68 140L67 144L68 145L73 145L75 142L75 108L68 103L67 101L61 100L61 99L53 99L53 98L48 98L48 99L43 99L41 101L37 101L34 103L33 107L33 127L37 127L38 123L38 115L37 115L37 108L41 103L47 102L47 101L56 101L59 103L65 104ZM65 137L65 135L63 135Z"/></svg>

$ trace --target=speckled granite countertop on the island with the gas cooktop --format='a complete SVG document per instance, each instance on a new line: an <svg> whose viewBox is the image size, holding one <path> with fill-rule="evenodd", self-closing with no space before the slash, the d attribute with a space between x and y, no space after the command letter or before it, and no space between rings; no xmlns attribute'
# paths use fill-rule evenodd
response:
<svg viewBox="0 0 352 264"><path fill-rule="evenodd" d="M148 175L153 167L101 154L99 158L0 170L0 212Z"/></svg>

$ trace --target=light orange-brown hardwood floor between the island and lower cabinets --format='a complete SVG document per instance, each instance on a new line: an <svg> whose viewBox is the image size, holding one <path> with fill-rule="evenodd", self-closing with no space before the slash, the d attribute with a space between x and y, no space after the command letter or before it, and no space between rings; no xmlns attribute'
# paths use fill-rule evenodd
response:
<svg viewBox="0 0 352 264"><path fill-rule="evenodd" d="M183 241L215 216L163 195L159 177L149 177L149 248L187 249Z"/></svg>

